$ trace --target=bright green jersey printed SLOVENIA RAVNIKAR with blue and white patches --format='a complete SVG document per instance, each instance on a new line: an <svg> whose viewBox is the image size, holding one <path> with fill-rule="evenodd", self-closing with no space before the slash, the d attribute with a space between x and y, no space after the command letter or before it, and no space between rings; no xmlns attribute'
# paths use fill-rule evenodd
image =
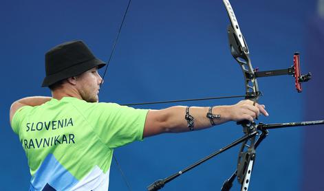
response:
<svg viewBox="0 0 324 191"><path fill-rule="evenodd" d="M30 190L108 190L114 148L142 140L148 110L77 98L23 106L12 118Z"/></svg>

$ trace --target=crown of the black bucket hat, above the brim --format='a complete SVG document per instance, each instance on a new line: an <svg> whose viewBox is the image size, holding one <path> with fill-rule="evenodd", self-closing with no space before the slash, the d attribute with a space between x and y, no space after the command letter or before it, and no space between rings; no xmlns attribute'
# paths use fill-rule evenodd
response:
<svg viewBox="0 0 324 191"><path fill-rule="evenodd" d="M45 54L46 76L94 59L83 41L69 41L53 47Z"/></svg>

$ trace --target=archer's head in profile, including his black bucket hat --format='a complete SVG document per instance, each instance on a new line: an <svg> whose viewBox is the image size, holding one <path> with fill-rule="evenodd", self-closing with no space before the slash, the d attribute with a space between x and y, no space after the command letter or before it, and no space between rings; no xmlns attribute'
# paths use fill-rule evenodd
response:
<svg viewBox="0 0 324 191"><path fill-rule="evenodd" d="M53 47L45 54L46 77L42 87L52 92L69 90L87 102L98 101L102 78L98 69L105 66L83 41L71 41Z"/></svg>

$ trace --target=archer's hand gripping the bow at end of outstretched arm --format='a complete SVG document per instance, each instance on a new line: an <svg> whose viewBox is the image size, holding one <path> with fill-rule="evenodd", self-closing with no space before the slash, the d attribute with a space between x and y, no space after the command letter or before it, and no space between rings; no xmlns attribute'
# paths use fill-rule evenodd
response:
<svg viewBox="0 0 324 191"><path fill-rule="evenodd" d="M269 116L266 111L266 106L263 104L258 104L251 100L242 100L235 105L230 106L230 119L235 122L240 122L243 120L249 120L252 122L261 113L265 116Z"/></svg>

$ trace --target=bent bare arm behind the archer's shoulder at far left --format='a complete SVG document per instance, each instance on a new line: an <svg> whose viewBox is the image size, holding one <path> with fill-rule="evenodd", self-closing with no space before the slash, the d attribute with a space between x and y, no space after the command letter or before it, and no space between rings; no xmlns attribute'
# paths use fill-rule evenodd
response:
<svg viewBox="0 0 324 191"><path fill-rule="evenodd" d="M52 97L45 97L45 96L33 96L22 98L13 102L10 106L10 124L12 121L12 117L14 117L14 113L18 111L22 106L39 106L45 102L48 102L52 99Z"/></svg>

